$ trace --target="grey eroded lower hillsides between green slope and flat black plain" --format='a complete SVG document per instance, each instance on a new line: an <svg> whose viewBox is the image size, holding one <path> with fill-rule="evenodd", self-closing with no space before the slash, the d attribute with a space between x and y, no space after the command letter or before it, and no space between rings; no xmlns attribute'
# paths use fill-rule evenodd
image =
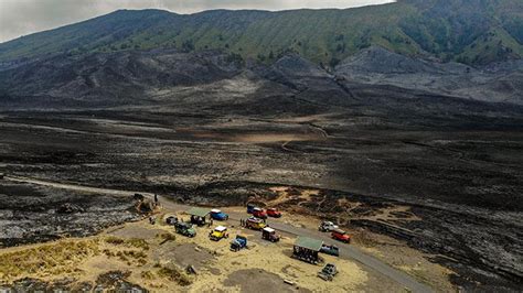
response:
<svg viewBox="0 0 523 293"><path fill-rule="evenodd" d="M334 70L298 54L286 54L265 65L218 51L97 53L51 57L0 70L0 105L11 109L198 106L202 101L231 105L282 102L285 98L277 97L298 95L313 101L308 108L324 109L350 105L357 99L354 91L375 86L403 88L407 96L425 93L521 105L522 65L510 61L474 68L406 57L377 46L342 61Z"/></svg>

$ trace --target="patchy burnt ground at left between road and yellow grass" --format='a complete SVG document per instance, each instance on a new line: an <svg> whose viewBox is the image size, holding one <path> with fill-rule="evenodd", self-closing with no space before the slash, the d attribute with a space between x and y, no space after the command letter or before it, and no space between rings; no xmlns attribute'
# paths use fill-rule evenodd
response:
<svg viewBox="0 0 523 293"><path fill-rule="evenodd" d="M85 237L140 218L131 196L0 182L0 247Z"/></svg>

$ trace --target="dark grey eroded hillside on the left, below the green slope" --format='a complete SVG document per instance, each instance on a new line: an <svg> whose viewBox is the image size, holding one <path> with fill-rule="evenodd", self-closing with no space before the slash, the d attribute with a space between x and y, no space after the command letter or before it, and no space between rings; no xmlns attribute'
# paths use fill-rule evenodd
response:
<svg viewBox="0 0 523 293"><path fill-rule="evenodd" d="M1 72L0 84L4 96L33 97L35 104L97 107L141 104L146 91L212 84L233 77L239 66L230 55L214 52L58 56Z"/></svg>

